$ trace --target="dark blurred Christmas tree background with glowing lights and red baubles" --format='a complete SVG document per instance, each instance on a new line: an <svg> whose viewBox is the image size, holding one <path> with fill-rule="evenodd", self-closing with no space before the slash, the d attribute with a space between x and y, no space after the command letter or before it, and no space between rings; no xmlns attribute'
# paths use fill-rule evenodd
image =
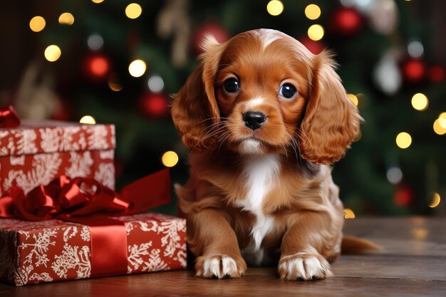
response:
<svg viewBox="0 0 446 297"><path fill-rule="evenodd" d="M166 166L187 180L170 94L207 32L274 28L329 48L365 119L333 170L346 217L446 212L446 1L16 0L2 1L0 28L0 106L114 124L118 189Z"/></svg>

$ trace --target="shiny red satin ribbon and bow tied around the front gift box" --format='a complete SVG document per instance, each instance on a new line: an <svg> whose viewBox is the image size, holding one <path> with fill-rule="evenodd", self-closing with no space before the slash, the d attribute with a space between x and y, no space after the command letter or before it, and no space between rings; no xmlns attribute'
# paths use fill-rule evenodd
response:
<svg viewBox="0 0 446 297"><path fill-rule="evenodd" d="M167 169L128 184L120 194L95 179L61 176L26 195L19 187L9 189L0 198L0 217L62 219L88 225L91 276L112 276L127 273L127 232L123 222L104 214L136 214L169 202Z"/></svg>

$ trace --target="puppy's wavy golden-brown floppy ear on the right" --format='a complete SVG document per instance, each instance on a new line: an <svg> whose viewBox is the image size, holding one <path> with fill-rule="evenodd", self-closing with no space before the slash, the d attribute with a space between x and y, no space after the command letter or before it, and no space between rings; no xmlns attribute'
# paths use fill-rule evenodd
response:
<svg viewBox="0 0 446 297"><path fill-rule="evenodd" d="M314 57L310 98L301 123L301 155L316 164L340 160L359 132L358 108L348 99L333 66L325 51Z"/></svg>

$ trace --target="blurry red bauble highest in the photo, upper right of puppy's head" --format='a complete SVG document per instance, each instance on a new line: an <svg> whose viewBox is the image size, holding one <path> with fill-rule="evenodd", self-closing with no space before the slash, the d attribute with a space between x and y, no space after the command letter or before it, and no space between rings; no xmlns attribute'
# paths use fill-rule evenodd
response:
<svg viewBox="0 0 446 297"><path fill-rule="evenodd" d="M354 36L363 26L363 17L356 9L341 8L333 12L330 29L340 36Z"/></svg>

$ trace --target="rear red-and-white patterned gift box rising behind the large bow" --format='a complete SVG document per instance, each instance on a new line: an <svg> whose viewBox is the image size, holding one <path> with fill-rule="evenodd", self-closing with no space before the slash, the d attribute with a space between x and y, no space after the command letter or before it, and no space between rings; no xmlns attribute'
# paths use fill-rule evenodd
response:
<svg viewBox="0 0 446 297"><path fill-rule="evenodd" d="M114 148L113 125L24 120L0 128L0 197L11 187L27 193L61 175L91 177L114 189Z"/></svg>

